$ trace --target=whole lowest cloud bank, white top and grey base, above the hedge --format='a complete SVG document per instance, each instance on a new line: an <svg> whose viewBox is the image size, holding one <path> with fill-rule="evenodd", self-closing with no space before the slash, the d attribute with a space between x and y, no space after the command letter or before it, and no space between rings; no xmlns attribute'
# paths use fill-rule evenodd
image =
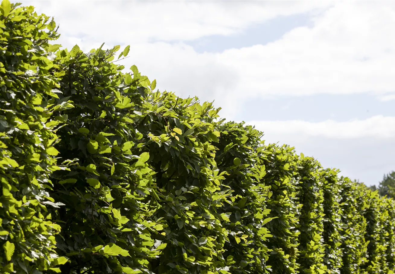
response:
<svg viewBox="0 0 395 274"><path fill-rule="evenodd" d="M250 121L265 135L265 143L293 146L316 158L324 168L340 169L341 176L378 184L395 170L395 117L312 123L306 121Z"/></svg>

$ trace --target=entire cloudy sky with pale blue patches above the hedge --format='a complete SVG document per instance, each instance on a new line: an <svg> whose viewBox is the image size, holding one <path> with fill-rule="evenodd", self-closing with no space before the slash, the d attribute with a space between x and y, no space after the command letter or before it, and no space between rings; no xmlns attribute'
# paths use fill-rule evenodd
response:
<svg viewBox="0 0 395 274"><path fill-rule="evenodd" d="M69 49L130 45L126 68L268 143L367 185L395 170L395 2L18 2Z"/></svg>

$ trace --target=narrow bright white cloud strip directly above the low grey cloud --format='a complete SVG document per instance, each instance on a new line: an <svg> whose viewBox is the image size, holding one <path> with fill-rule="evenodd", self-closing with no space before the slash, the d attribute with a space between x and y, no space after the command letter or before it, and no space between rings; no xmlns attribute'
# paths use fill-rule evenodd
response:
<svg viewBox="0 0 395 274"><path fill-rule="evenodd" d="M323 122L307 122L301 120L288 121L250 121L257 129L263 131L265 136L271 135L314 136L325 138L355 139L374 137L387 139L395 137L395 116L373 116L366 120L350 120L336 122L326 120ZM265 138L263 138L265 139Z"/></svg>

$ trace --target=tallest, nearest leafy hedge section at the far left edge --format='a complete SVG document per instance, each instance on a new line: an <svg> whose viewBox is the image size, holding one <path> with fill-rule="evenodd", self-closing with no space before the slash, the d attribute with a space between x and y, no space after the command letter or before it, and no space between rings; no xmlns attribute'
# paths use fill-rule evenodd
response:
<svg viewBox="0 0 395 274"><path fill-rule="evenodd" d="M32 273L67 261L57 258L61 227L48 207L56 166L56 113L72 107L58 101L58 65L45 49L58 38L55 22L3 1L0 9L0 256L1 273Z"/></svg>

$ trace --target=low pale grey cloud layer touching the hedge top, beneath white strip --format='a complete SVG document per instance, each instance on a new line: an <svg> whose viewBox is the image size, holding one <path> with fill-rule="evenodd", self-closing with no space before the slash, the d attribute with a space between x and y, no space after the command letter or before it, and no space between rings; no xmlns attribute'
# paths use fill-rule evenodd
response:
<svg viewBox="0 0 395 274"><path fill-rule="evenodd" d="M293 146L297 154L303 152L305 156L320 161L324 168L340 169L341 176L359 179L368 186L377 185L384 174L395 170L394 138L339 139L291 133L288 135L268 133L262 139L267 140L265 143L279 142L279 145L285 143Z"/></svg>

